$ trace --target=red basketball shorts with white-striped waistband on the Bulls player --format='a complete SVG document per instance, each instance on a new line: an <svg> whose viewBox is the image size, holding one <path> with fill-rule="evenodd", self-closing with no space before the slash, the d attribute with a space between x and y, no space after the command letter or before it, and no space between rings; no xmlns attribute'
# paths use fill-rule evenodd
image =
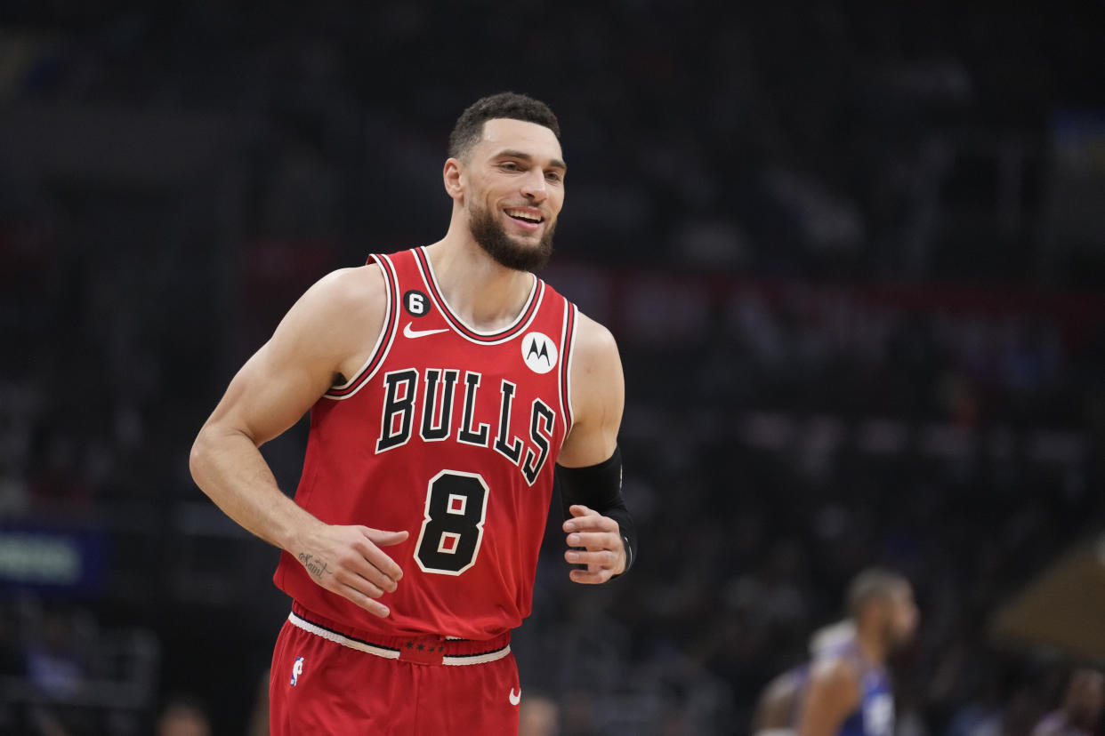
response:
<svg viewBox="0 0 1105 736"><path fill-rule="evenodd" d="M358 634L297 606L273 652L270 733L517 736L508 642Z"/></svg>

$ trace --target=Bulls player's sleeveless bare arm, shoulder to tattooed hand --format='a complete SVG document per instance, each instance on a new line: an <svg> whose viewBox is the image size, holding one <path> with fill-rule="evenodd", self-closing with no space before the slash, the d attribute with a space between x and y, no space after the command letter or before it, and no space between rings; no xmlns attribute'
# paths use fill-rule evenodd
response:
<svg viewBox="0 0 1105 736"><path fill-rule="evenodd" d="M319 521L284 495L259 448L364 364L382 329L385 289L376 266L338 270L311 287L231 381L189 458L196 483L227 515L377 616L389 611L376 598L402 577L380 546L407 532Z"/></svg>

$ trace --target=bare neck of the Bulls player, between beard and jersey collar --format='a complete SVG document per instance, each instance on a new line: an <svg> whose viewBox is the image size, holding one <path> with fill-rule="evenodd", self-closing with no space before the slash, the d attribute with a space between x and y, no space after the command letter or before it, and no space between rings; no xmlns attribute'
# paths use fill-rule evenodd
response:
<svg viewBox="0 0 1105 736"><path fill-rule="evenodd" d="M533 289L532 274L501 266L473 239L467 223L455 217L427 255L450 309L480 331L509 327Z"/></svg>

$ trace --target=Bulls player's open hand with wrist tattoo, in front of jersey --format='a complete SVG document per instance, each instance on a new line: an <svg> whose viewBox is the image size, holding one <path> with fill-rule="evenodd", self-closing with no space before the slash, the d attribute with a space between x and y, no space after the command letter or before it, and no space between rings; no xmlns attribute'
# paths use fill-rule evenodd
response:
<svg viewBox="0 0 1105 736"><path fill-rule="evenodd" d="M323 588L382 618L391 611L376 598L394 593L403 570L380 547L407 536L407 532L324 524L299 545L296 557Z"/></svg>

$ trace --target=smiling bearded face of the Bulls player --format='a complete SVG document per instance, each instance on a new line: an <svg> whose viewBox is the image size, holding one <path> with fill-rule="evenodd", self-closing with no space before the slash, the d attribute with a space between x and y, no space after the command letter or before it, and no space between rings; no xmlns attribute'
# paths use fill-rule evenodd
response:
<svg viewBox="0 0 1105 736"><path fill-rule="evenodd" d="M552 254L564 205L560 142L535 122L496 118L464 157L464 207L476 243L515 270L536 270Z"/></svg>

